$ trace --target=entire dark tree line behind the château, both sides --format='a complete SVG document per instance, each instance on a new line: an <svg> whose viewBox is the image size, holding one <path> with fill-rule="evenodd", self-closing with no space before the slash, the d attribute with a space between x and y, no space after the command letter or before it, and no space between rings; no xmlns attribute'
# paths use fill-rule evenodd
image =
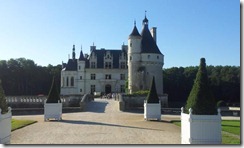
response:
<svg viewBox="0 0 244 148"><path fill-rule="evenodd" d="M0 79L6 96L48 95L53 76L57 86L60 86L61 69L61 65L38 66L33 60L25 58L0 60ZM197 70L198 66L163 69L164 93L176 107L186 102ZM240 66L207 66L207 72L216 101L240 103Z"/></svg>

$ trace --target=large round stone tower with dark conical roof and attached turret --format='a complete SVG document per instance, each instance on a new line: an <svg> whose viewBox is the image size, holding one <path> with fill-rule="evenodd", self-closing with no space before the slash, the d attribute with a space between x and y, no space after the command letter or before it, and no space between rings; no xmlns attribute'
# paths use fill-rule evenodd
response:
<svg viewBox="0 0 244 148"><path fill-rule="evenodd" d="M164 55L156 44L156 28L150 32L145 15L141 34L136 24L128 39L128 89L130 93L149 90L151 79L155 77L158 95L163 95ZM152 34L151 34L152 33Z"/></svg>

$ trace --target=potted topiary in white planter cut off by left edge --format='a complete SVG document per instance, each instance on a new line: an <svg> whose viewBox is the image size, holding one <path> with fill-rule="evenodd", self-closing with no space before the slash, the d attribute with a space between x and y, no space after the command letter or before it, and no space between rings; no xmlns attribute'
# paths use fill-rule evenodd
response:
<svg viewBox="0 0 244 148"><path fill-rule="evenodd" d="M0 144L10 144L11 120L11 108L7 107L2 82L0 80Z"/></svg>

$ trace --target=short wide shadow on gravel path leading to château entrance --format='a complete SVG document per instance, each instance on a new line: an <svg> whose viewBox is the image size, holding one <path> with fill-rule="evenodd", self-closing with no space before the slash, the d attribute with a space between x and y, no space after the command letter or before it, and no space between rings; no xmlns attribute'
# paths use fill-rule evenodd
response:
<svg viewBox="0 0 244 148"><path fill-rule="evenodd" d="M105 113L108 102L91 101L86 104L85 112Z"/></svg>

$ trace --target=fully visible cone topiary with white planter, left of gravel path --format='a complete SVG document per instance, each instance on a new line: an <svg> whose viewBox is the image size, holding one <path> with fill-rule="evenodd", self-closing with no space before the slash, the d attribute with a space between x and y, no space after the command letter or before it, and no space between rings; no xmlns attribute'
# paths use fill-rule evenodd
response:
<svg viewBox="0 0 244 148"><path fill-rule="evenodd" d="M55 83L55 78L53 78L47 100L44 102L44 120L46 121L50 118L56 120L62 119L62 103Z"/></svg>

